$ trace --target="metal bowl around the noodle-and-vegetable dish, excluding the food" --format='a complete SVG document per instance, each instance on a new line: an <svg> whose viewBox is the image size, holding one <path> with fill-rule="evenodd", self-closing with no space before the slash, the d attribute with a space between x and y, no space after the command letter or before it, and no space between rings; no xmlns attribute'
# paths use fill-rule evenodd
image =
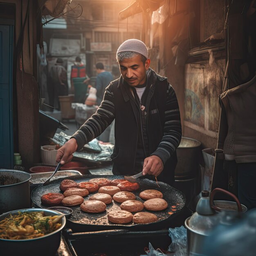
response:
<svg viewBox="0 0 256 256"><path fill-rule="evenodd" d="M9 211L0 215L0 221L4 220L10 213L17 215L20 212L43 211L46 216L62 215L58 211L41 208L21 209ZM54 255L61 243L61 230L65 227L66 218L61 219L61 227L45 236L33 239L9 240L0 238L1 255L8 256L46 256Z"/></svg>

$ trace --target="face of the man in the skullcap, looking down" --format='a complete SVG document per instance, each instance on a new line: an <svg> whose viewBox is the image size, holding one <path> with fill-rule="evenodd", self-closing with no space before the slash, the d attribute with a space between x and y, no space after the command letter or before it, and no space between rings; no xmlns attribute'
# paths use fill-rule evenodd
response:
<svg viewBox="0 0 256 256"><path fill-rule="evenodd" d="M148 58L143 64L139 55L119 61L120 72L124 80L132 87L145 83L146 70L148 70L149 65L150 59Z"/></svg>

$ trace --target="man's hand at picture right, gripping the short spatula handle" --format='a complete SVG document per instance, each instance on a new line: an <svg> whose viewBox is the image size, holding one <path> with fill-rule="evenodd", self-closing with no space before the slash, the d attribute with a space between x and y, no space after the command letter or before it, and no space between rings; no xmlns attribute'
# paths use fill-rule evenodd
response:
<svg viewBox="0 0 256 256"><path fill-rule="evenodd" d="M150 174L158 176L164 169L164 164L160 157L156 155L151 155L144 159L143 164L143 175Z"/></svg>

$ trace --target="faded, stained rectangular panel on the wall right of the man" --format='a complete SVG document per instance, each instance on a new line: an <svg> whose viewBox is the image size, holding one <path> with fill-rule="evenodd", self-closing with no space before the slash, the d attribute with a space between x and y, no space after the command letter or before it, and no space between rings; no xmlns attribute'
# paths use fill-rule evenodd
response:
<svg viewBox="0 0 256 256"><path fill-rule="evenodd" d="M187 63L184 79L184 136L216 148L225 60Z"/></svg>

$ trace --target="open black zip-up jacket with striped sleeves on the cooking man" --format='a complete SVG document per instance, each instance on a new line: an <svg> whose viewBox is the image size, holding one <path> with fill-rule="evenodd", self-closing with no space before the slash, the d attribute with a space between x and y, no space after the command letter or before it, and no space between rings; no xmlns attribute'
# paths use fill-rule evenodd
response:
<svg viewBox="0 0 256 256"><path fill-rule="evenodd" d="M177 164L176 148L182 130L180 111L175 92L166 77L147 71L146 128L150 155L157 155L164 163L164 170L157 180L172 184ZM133 175L137 140L140 132L139 108L131 97L131 90L123 83L122 76L106 88L97 112L72 136L78 150L99 136L115 119L115 148L111 155L115 175ZM142 171L142 170L141 170Z"/></svg>

